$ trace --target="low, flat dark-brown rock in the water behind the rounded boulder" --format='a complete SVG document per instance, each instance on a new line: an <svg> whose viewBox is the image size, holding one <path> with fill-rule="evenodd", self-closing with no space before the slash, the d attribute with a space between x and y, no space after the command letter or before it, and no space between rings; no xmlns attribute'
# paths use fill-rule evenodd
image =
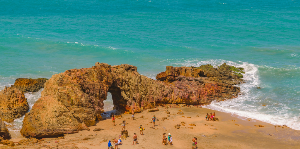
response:
<svg viewBox="0 0 300 149"><path fill-rule="evenodd" d="M27 79L27 78L18 78L16 82L10 86L16 89L21 90L22 92L38 92L41 88L44 88L44 83L46 82L46 78L38 78L38 79Z"/></svg>

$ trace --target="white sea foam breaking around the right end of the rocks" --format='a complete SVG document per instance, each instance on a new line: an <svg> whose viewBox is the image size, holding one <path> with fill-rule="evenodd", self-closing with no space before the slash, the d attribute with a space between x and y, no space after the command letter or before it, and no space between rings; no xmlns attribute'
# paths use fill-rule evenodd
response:
<svg viewBox="0 0 300 149"><path fill-rule="evenodd" d="M170 62L173 60L164 60L162 63ZM174 60L175 61L175 60ZM300 130L300 121L299 116L292 116L290 114L290 107L286 104L280 103L280 101L272 101L270 105L262 106L262 103L268 101L268 98L271 98L270 95L267 97L261 96L261 91L256 89L256 87L268 87L264 84L261 84L258 75L258 69L266 69L267 71L289 71L286 68L273 68L270 66L257 66L251 63L242 62L242 61L226 61L226 60L199 60L199 59L188 59L183 60L182 63L171 63L177 66L201 66L205 64L211 64L213 66L220 66L223 63L227 65L232 65L235 67L242 67L245 70L244 80L246 83L236 85L241 88L241 93L237 98L228 99L225 101L216 102L213 101L210 105L204 106L206 108L232 113L235 117L246 120L248 118L256 119L259 121L268 122L271 124L283 125L286 124L288 127L291 127L295 130ZM297 69L295 66L293 69ZM263 99L261 99L263 98ZM262 102L262 103L261 103ZM278 102L278 103L274 103ZM278 107L278 108L277 108ZM251 120L255 121L255 120Z"/></svg>

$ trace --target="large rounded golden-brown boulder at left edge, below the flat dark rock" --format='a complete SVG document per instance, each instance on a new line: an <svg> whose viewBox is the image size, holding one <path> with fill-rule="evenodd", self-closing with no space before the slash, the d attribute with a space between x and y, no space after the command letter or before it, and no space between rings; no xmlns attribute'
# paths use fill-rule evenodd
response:
<svg viewBox="0 0 300 149"><path fill-rule="evenodd" d="M13 87L5 87L0 92L0 118L12 122L29 110L27 98L22 91Z"/></svg>

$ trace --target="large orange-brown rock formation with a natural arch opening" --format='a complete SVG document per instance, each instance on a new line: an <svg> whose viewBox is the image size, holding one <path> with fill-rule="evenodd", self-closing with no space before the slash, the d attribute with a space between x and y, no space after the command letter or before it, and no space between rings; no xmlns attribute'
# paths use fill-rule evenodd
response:
<svg viewBox="0 0 300 149"><path fill-rule="evenodd" d="M54 74L45 83L41 98L25 115L21 134L45 137L88 130L87 126L101 120L107 92L112 94L115 109L135 112L164 104L210 104L240 92L239 87L199 77L200 72L205 74L200 69L167 67L164 73L168 75L160 74L158 80L153 80L128 64L110 66L97 62L95 65ZM182 73L183 70L193 73ZM168 77L172 78L160 81Z"/></svg>

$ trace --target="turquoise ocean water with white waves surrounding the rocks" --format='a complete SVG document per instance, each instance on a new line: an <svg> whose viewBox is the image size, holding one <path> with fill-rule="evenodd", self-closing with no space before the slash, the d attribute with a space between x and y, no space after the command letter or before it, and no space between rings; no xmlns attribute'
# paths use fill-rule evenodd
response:
<svg viewBox="0 0 300 149"><path fill-rule="evenodd" d="M95 62L154 79L170 65L225 62L247 83L208 108L300 130L299 60L298 0L0 0L0 90ZM26 93L31 106L39 96Z"/></svg>

